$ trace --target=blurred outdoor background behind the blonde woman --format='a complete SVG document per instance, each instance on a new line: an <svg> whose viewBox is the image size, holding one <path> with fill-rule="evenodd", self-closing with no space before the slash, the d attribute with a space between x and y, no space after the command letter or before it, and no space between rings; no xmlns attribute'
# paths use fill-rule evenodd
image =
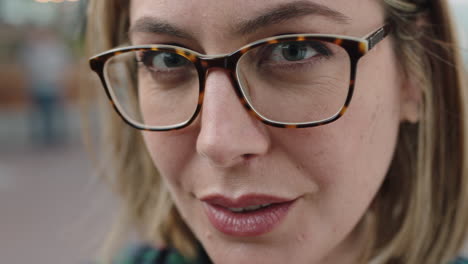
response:
<svg viewBox="0 0 468 264"><path fill-rule="evenodd" d="M468 0L451 0L468 65ZM90 263L113 216L81 142L86 0L0 0L0 258Z"/></svg>

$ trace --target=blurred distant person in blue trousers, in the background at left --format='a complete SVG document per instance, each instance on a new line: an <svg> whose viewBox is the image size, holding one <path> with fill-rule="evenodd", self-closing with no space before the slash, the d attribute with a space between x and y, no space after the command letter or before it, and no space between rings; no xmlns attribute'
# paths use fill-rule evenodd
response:
<svg viewBox="0 0 468 264"><path fill-rule="evenodd" d="M19 49L27 79L33 142L53 145L65 140L65 78L70 58L66 45L47 27L34 27Z"/></svg>

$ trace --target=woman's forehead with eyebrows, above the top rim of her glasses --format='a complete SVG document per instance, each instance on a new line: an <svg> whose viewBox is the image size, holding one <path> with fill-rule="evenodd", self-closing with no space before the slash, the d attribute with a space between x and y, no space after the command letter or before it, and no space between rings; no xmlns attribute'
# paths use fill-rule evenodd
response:
<svg viewBox="0 0 468 264"><path fill-rule="evenodd" d="M141 24L142 18L155 18L197 39L234 39L242 36L233 33L252 33L254 30L249 30L249 26L268 27L269 22L272 22L270 27L277 27L276 31L270 28L273 35L334 33L362 37L383 23L379 1L130 0L130 23L135 26Z"/></svg>

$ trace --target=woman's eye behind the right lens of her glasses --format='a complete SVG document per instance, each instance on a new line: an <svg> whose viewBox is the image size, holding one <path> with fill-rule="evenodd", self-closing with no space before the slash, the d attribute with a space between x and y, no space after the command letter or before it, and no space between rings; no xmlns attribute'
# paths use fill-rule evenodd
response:
<svg viewBox="0 0 468 264"><path fill-rule="evenodd" d="M330 50L320 42L301 41L301 42L285 42L274 44L269 48L267 57L264 61L280 63L280 62L299 62L311 59L317 56L330 56Z"/></svg>

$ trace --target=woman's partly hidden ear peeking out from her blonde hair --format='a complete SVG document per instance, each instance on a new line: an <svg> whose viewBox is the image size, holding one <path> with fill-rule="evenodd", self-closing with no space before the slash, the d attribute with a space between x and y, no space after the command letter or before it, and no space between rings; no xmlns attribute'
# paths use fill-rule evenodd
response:
<svg viewBox="0 0 468 264"><path fill-rule="evenodd" d="M421 84L413 78L406 76L401 81L400 87L400 121L417 123L421 115Z"/></svg>

